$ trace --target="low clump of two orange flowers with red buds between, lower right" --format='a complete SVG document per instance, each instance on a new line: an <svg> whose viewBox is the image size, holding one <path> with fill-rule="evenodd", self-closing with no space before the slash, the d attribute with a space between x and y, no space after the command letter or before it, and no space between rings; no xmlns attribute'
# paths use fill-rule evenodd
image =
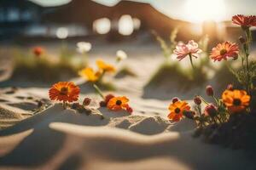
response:
<svg viewBox="0 0 256 170"><path fill-rule="evenodd" d="M221 99L216 98L212 86L207 86L206 94L215 100L215 104L208 103L201 96L195 96L195 111L190 110L191 107L186 101L173 98L172 104L169 106L170 114L168 118L178 122L183 117L187 117L199 122L200 126L226 122L231 114L247 111L251 99L245 90L233 89L232 85L224 90ZM207 105L204 111L201 111L202 102Z"/></svg>

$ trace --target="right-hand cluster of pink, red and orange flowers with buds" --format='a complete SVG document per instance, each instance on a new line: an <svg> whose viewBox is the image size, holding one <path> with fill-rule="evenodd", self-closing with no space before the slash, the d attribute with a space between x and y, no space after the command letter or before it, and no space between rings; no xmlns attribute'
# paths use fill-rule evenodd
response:
<svg viewBox="0 0 256 170"><path fill-rule="evenodd" d="M245 83L245 88L247 90L233 89L232 85L223 92L221 99L216 98L213 93L211 86L207 86L207 95L211 96L215 100L215 104L208 103L201 96L196 96L194 99L196 105L196 111L191 111L190 106L186 101L179 100L177 98L172 99L172 104L169 106L170 114L169 119L174 122L178 122L186 116L190 119L194 119L199 122L200 126L204 126L210 123L221 123L228 121L230 114L242 113L249 111L249 105L251 100L251 90L252 84L250 84L250 67L248 63L249 57L249 44L252 42L252 37L249 28L251 26L256 26L256 16L245 16L245 15L235 15L232 18L232 22L236 25L241 26L242 31L245 31L246 38L240 37L241 47L245 54L241 57L242 70L245 70L247 74L247 79ZM174 54L177 54L177 59L184 59L189 56L192 67L194 68L192 58L197 58L201 53L201 49L198 48L198 44L193 40L189 41L187 44L179 43L177 44ZM221 61L231 59L238 59L239 56L239 45L233 42L222 42L212 48L210 58L214 61ZM244 65L244 60L246 63ZM201 111L201 102L204 102L207 106L204 111Z"/></svg>

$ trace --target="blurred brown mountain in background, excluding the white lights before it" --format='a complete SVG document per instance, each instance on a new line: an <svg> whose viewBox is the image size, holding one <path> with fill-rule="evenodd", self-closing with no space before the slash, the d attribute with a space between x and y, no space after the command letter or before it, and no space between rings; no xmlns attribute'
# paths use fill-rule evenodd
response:
<svg viewBox="0 0 256 170"><path fill-rule="evenodd" d="M73 0L71 3L56 8L55 11L45 14L44 22L60 24L75 23L86 26L90 31L93 29L93 22L98 19L108 18L111 23L118 21L122 15L131 15L141 21L141 30L156 31L160 36L169 37L170 32L179 27L179 36L186 39L192 35L188 26L191 23L172 18L160 13L149 3L138 3L132 1L120 1L113 7L108 7L90 0ZM109 34L114 35L111 30ZM190 36L189 36L190 37Z"/></svg>

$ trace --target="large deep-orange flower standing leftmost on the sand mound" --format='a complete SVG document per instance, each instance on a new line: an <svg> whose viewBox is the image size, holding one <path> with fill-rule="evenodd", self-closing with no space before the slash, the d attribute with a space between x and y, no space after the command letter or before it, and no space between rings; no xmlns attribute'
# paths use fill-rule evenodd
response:
<svg viewBox="0 0 256 170"><path fill-rule="evenodd" d="M73 82L58 82L49 89L49 99L73 102L79 99L80 88Z"/></svg>

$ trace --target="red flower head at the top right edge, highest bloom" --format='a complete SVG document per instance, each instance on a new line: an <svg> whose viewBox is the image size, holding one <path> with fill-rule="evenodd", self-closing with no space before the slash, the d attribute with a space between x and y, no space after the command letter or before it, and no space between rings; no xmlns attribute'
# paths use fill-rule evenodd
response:
<svg viewBox="0 0 256 170"><path fill-rule="evenodd" d="M242 28L249 28L251 26L256 26L256 16L236 14L232 17L232 22Z"/></svg>

